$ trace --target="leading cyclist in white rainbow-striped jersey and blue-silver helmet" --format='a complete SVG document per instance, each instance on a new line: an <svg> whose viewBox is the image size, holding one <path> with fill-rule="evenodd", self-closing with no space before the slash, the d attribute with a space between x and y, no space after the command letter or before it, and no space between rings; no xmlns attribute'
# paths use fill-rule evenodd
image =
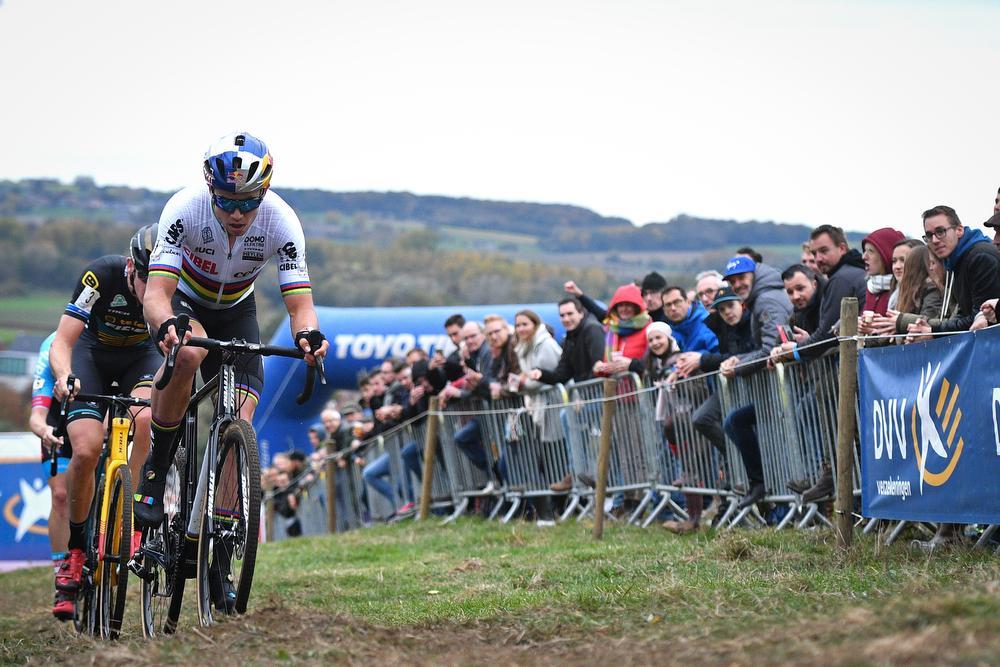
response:
<svg viewBox="0 0 1000 667"><path fill-rule="evenodd" d="M149 330L163 354L179 343L175 325L181 313L190 317L194 336L259 342L254 280L276 257L295 344L307 353L309 364L326 355L326 340L316 349L308 342L318 320L302 225L291 207L270 191L272 168L263 141L248 132L226 135L205 153L205 185L181 190L163 208L144 302ZM163 519L167 468L195 371L200 367L202 378L209 380L221 361L218 351L185 346L177 355L172 381L153 390L152 450L136 493L139 526L155 527ZM243 357L236 371L240 417L251 421L264 386L263 363L258 356ZM216 605L225 602L228 608L228 600L218 596L229 593L213 591Z"/></svg>

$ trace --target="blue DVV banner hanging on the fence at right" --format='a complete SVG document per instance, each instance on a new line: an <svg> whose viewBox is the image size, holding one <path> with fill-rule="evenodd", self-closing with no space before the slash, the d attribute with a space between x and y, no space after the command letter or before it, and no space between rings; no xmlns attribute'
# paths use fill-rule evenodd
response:
<svg viewBox="0 0 1000 667"><path fill-rule="evenodd" d="M1000 523L1000 327L859 351L865 516Z"/></svg>

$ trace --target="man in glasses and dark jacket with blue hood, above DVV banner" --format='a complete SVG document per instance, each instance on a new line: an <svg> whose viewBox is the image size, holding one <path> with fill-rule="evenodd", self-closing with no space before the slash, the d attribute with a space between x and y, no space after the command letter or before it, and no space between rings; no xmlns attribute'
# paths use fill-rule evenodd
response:
<svg viewBox="0 0 1000 667"><path fill-rule="evenodd" d="M955 317L911 324L911 334L967 331L984 301L1000 297L1000 251L978 229L962 225L955 209L935 206L923 213L924 240L947 270L945 289L958 301Z"/></svg>

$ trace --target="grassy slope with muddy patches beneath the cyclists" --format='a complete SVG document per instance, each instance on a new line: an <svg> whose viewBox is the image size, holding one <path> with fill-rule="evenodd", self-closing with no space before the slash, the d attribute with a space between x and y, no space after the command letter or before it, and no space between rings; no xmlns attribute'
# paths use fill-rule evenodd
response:
<svg viewBox="0 0 1000 667"><path fill-rule="evenodd" d="M246 616L199 629L188 612L152 643L137 604L105 644L48 617L50 598L48 570L0 575L0 662L997 664L1000 651L996 556L870 538L842 554L825 532L611 527L594 542L584 524L466 520L300 539L262 548Z"/></svg>

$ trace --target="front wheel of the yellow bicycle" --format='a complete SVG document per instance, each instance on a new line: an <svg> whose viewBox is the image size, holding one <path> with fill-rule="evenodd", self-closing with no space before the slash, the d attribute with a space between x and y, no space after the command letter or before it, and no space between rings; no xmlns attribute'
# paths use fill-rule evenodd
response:
<svg viewBox="0 0 1000 667"><path fill-rule="evenodd" d="M132 477L128 466L115 468L111 477L107 527L101 551L101 636L117 639L125 615L128 592L128 560L132 555Z"/></svg>

